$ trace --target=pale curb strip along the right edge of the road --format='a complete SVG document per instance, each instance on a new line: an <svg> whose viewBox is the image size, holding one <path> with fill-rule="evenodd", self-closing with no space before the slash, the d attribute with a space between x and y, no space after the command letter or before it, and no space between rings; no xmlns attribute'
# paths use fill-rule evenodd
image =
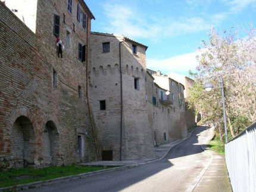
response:
<svg viewBox="0 0 256 192"><path fill-rule="evenodd" d="M213 133L214 133L214 128L213 129ZM213 139L213 133L211 133L210 137L211 139ZM213 136L212 136L213 135ZM204 169L202 169L202 171L199 173L199 175L195 178L195 180L193 180L192 184L186 189L186 192L192 192L196 186L198 185L199 181L201 181L201 178L204 176L205 172L207 171L208 167L211 165L211 162L213 161L213 154L207 152L205 150L205 148L202 146L203 144L208 144L208 142L211 140L209 139L209 137L207 137L201 144L201 149L207 153L208 155L211 156L211 159L209 160L209 162L205 165Z"/></svg>

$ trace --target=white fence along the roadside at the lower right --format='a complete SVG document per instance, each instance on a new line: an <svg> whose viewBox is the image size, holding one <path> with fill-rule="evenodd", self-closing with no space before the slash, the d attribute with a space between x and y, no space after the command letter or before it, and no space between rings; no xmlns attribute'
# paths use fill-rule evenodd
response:
<svg viewBox="0 0 256 192"><path fill-rule="evenodd" d="M225 144L227 171L233 191L256 191L256 122Z"/></svg>

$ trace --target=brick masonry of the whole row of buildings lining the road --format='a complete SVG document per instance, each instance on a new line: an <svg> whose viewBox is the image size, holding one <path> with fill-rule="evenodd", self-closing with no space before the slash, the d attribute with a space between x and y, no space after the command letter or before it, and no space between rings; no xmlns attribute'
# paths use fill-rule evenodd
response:
<svg viewBox="0 0 256 192"><path fill-rule="evenodd" d="M67 2L38 0L36 19L30 22L33 31L0 2L0 169L96 160L94 139L101 159L107 150L113 160L153 158L154 144L186 137L180 84L170 86L166 77L164 85L152 83L146 46L124 36L90 33L94 17L85 2L73 0L72 13ZM86 14L86 27L77 21L77 5ZM62 58L57 55L54 15L60 16ZM110 42L110 52L102 52L104 42ZM79 43L86 46L83 62ZM152 96L159 99L167 90L176 95L173 105L159 100L153 105ZM100 100L105 100L105 110Z"/></svg>

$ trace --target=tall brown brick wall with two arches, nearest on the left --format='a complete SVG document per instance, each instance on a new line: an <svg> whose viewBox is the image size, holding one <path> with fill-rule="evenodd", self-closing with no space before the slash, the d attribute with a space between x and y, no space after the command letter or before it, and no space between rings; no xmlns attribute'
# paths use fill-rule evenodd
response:
<svg viewBox="0 0 256 192"><path fill-rule="evenodd" d="M63 58L57 56L56 39L52 33L54 14L59 14L61 21L63 12L68 15L66 4L64 1L63 4L38 1L35 34L0 3L1 169L24 165L70 165L96 158L85 96L86 67L72 56L78 55L78 41L86 43L86 30L71 31L72 44L63 51ZM69 18L73 18L72 15ZM67 24L60 26L60 38L64 43L70 22L67 16ZM88 27L90 30L90 23ZM55 87L54 71L57 73ZM78 86L83 91L80 97ZM27 134L29 127L31 131ZM78 153L79 134L85 143L82 159ZM56 143L51 142L54 138ZM31 147L25 150L27 140ZM14 150L14 146L22 143L23 149Z"/></svg>

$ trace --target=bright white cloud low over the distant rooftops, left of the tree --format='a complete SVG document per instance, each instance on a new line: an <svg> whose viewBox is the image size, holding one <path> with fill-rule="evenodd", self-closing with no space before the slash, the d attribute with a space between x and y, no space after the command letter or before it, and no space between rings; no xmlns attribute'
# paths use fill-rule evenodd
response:
<svg viewBox="0 0 256 192"><path fill-rule="evenodd" d="M173 72L188 76L189 70L195 72L195 68L198 65L196 55L199 54L199 52L192 52L172 56L171 58L167 59L148 58L146 60L146 67L155 71L160 70L163 74Z"/></svg>

